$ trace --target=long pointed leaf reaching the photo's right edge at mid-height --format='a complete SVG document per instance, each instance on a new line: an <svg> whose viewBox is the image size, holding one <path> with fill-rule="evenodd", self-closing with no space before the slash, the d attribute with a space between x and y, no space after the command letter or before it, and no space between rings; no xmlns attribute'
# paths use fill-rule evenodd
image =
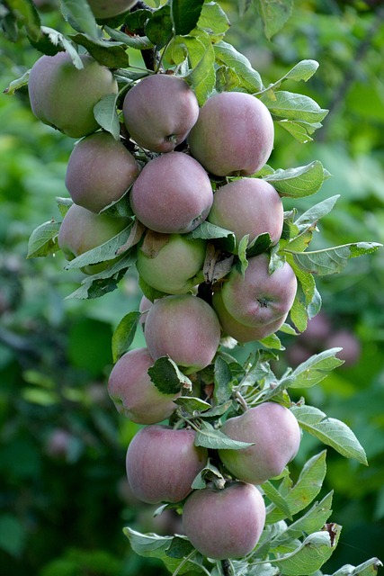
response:
<svg viewBox="0 0 384 576"><path fill-rule="evenodd" d="M356 242L313 252L294 252L289 249L286 252L292 255L301 270L325 276L344 270L349 258L372 254L381 246L382 244L377 242Z"/></svg>

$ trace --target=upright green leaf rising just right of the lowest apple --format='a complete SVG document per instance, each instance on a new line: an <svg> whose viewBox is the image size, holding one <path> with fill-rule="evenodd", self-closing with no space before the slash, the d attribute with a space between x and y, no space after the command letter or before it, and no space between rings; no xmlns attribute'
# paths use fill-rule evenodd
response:
<svg viewBox="0 0 384 576"><path fill-rule="evenodd" d="M317 497L325 477L326 450L323 450L318 455L312 456L312 458L304 464L299 475L299 480L294 486L291 485L292 482L289 476L281 481L279 491L290 509L291 516L307 508ZM274 505L268 507L266 520L268 524L273 524L284 518L287 518L287 516L280 509L276 509Z"/></svg>

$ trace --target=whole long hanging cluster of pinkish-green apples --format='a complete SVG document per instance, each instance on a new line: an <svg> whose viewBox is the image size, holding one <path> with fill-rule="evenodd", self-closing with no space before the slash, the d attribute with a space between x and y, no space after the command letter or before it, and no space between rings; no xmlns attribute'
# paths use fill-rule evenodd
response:
<svg viewBox="0 0 384 576"><path fill-rule="evenodd" d="M123 10L127 4L121 3ZM193 379L212 365L223 336L240 343L266 338L290 312L296 275L288 263L270 269L269 248L283 226L281 197L255 177L272 153L272 116L258 98L241 92L217 93L199 106L181 76L149 74L124 95L122 136L115 139L100 130L94 105L118 94L116 80L91 56L80 58L82 69L67 52L42 56L31 68L29 94L40 121L78 139L66 175L73 203L58 232L65 257L78 257L128 226L131 218L109 211L121 199L143 230L136 266L143 285L156 293L152 300L144 296L140 306L146 347L123 354L108 382L117 410L143 425L127 451L129 485L144 502L183 503L185 534L201 554L242 557L263 531L258 486L281 474L297 454L299 424L288 408L263 402L220 422L223 434L250 446L212 455L196 446L195 428L177 419L174 426L164 423L175 421L181 392L161 392L151 369L167 357ZM204 222L232 235L227 254L219 242L192 234ZM268 247L242 270L243 238L251 246L261 235L268 235ZM209 282L212 244L230 266ZM112 264L83 271L93 275ZM218 459L226 482L192 490L210 457Z"/></svg>

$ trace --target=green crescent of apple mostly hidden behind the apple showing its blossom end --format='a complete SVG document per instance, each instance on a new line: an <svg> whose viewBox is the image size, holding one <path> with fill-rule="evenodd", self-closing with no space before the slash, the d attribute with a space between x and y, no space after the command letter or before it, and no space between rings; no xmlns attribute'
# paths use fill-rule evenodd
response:
<svg viewBox="0 0 384 576"><path fill-rule="evenodd" d="M240 344L246 344L246 342L255 342L256 340L263 340L267 336L271 336L274 332L284 324L287 315L282 316L278 320L272 321L270 324L265 324L263 326L246 326L241 324L231 316L224 306L222 295L220 291L217 291L212 296L212 306L213 310L217 313L221 329L226 336L235 338Z"/></svg>

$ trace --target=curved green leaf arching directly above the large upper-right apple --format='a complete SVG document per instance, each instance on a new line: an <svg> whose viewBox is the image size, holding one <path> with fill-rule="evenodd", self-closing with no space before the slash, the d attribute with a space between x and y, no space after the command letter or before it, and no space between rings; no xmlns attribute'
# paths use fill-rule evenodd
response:
<svg viewBox="0 0 384 576"><path fill-rule="evenodd" d="M237 51L231 44L220 40L213 47L216 62L219 65L233 68L240 78L239 87L245 88L246 92L254 94L263 88L260 74L254 70L248 58Z"/></svg>

